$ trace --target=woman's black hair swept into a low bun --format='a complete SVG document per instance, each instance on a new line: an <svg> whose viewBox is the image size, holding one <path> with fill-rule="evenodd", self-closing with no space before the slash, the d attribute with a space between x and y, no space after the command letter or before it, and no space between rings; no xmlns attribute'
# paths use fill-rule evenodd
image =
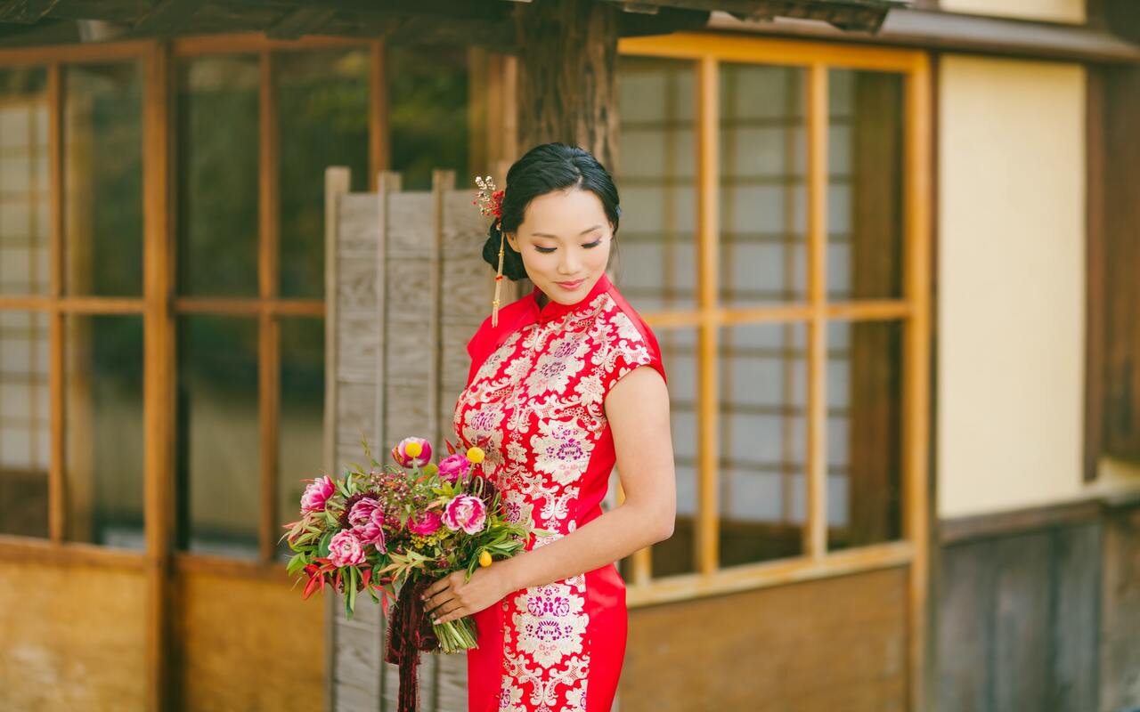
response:
<svg viewBox="0 0 1140 712"><path fill-rule="evenodd" d="M588 150L557 142L539 144L511 165L503 194L503 229L514 232L522 224L531 200L567 188L589 190L596 195L617 235L621 207L613 178ZM499 221L495 221L483 244L483 260L495 269L498 269L499 239ZM503 273L513 281L527 277L522 255L511 247L508 240L503 240Z"/></svg>

